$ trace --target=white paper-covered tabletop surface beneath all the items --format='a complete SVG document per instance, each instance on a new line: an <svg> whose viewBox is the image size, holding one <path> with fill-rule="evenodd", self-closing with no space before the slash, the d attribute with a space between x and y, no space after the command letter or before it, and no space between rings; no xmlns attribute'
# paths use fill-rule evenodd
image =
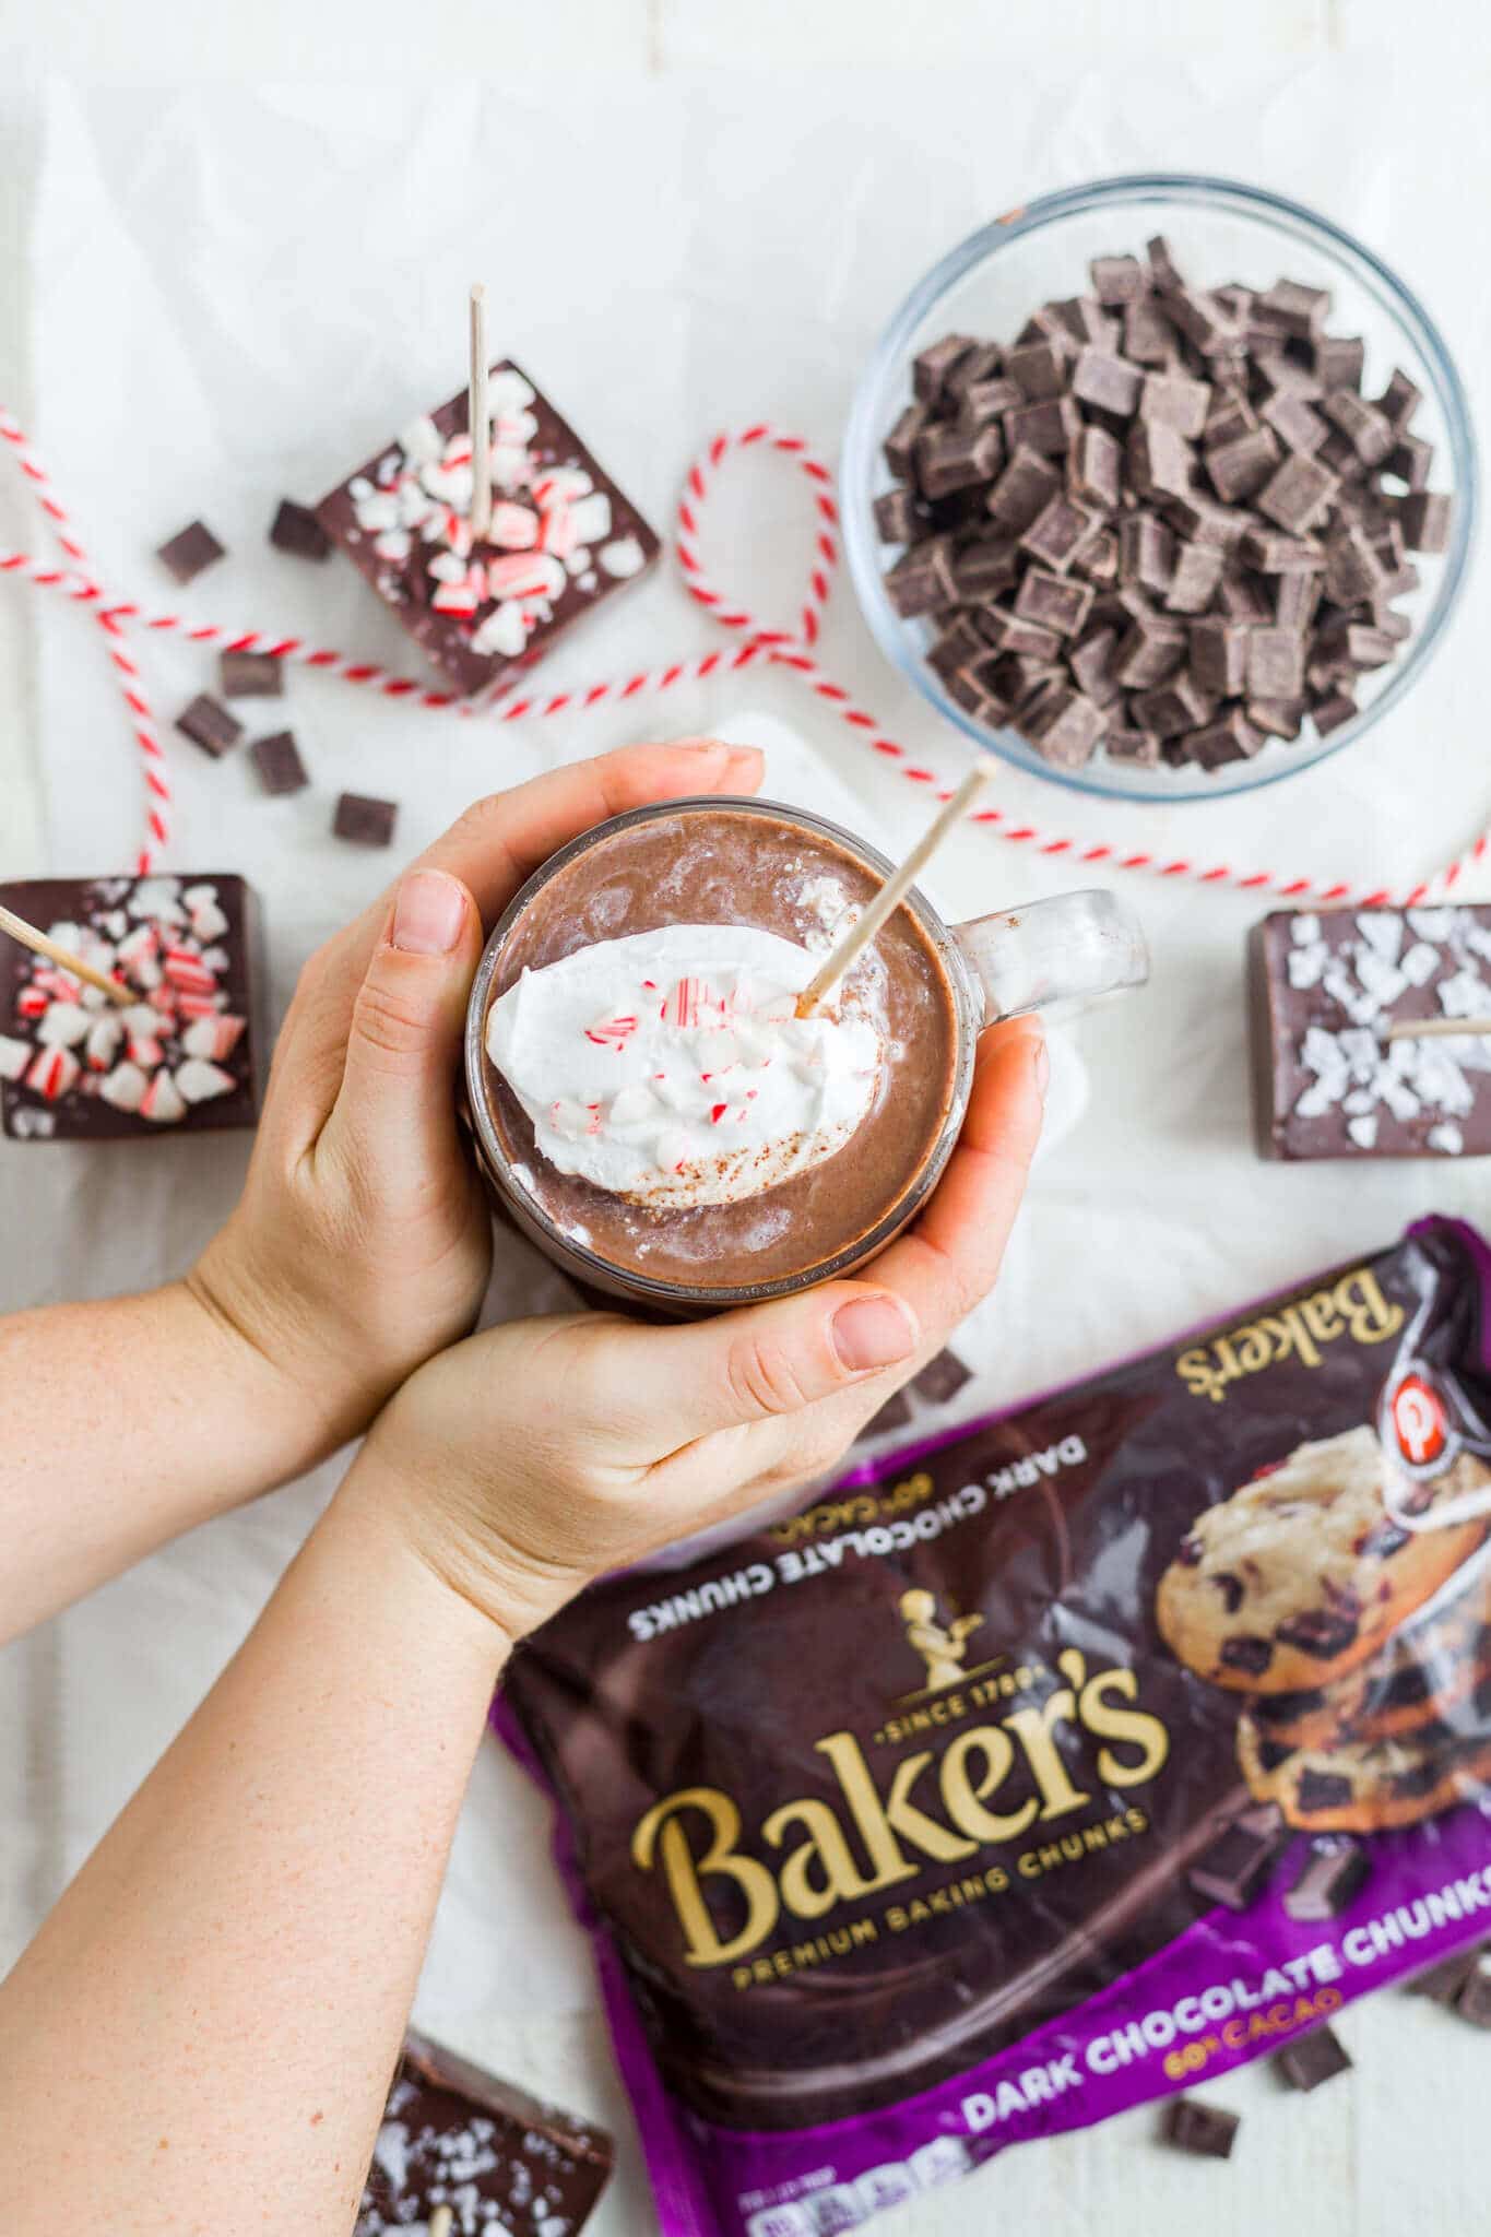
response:
<svg viewBox="0 0 1491 2237"><path fill-rule="evenodd" d="M912 38L914 18L925 22ZM1417 9L1408 25L1379 0L1256 0L1245 18L1245 36L1221 47L1229 11L1196 0L1127 7L1122 27L1100 0L1046 0L1024 36L1008 9L975 0L932 11L92 0L40 22L0 0L0 394L123 588L172 602L150 550L201 512L232 557L183 597L194 613L306 622L400 667L398 633L351 570L297 568L266 550L262 528L282 492L320 494L458 385L474 273L505 309L498 342L572 407L659 526L688 452L718 425L771 416L832 456L874 333L941 248L1031 192L1124 168L1229 170L1359 230L1440 315L1491 425L1491 304L1466 215L1491 190L1491 72L1473 34L1455 36L1471 11ZM1359 51L1381 31L1397 51ZM349 58L380 85L349 87ZM83 83L45 89L42 65ZM266 78L275 92L255 89ZM718 575L789 615L805 546L794 479L742 470L711 521ZM34 515L0 479L0 546L11 544L34 544ZM1422 689L1348 763L1250 808L1136 812L1122 832L1417 875L1471 834L1491 796L1484 635L1482 570ZM655 579L550 673L588 682L709 644L677 586ZM928 729L881 669L847 591L825 662L892 734L961 770L957 740ZM152 644L150 678L168 718L208 667ZM865 817L908 832L917 814L917 796L787 678L543 734L373 707L324 680L295 678L291 691L317 778L297 801L262 801L241 756L208 765L170 747L172 861L250 870L270 906L277 1000L313 940L389 868L324 837L342 785L402 801L402 852L474 792L554 754L762 707L811 738ZM1051 787L1001 776L997 796L1055 830L1113 834L1113 810ZM112 868L134 848L134 763L96 633L0 584L0 868ZM968 834L939 897L972 913L1055 884ZM1241 1009L1256 906L1127 890L1149 919L1156 982L1080 1027L1093 1107L1042 1161L977 1333L970 1403L1160 1340L1422 1210L1487 1215L1480 1165L1259 1168ZM232 1139L0 1145L0 1309L183 1264L232 1201L241 1163ZM0 1398L0 1432L2 1420ZM210 1684L331 1481L168 1550L0 1658L0 1957ZM583 1948L545 1868L543 1812L494 1749L418 2009L436 2033L612 2121L624 2165L597 2237L650 2226ZM1015 2152L876 2228L1475 2226L1484 2045L1402 1998L1357 2009L1341 2033L1359 2069L1317 2098L1285 2101L1263 2071L1216 2092L1247 2114L1229 2168L1153 2150L1153 2116L1138 2114Z"/></svg>

